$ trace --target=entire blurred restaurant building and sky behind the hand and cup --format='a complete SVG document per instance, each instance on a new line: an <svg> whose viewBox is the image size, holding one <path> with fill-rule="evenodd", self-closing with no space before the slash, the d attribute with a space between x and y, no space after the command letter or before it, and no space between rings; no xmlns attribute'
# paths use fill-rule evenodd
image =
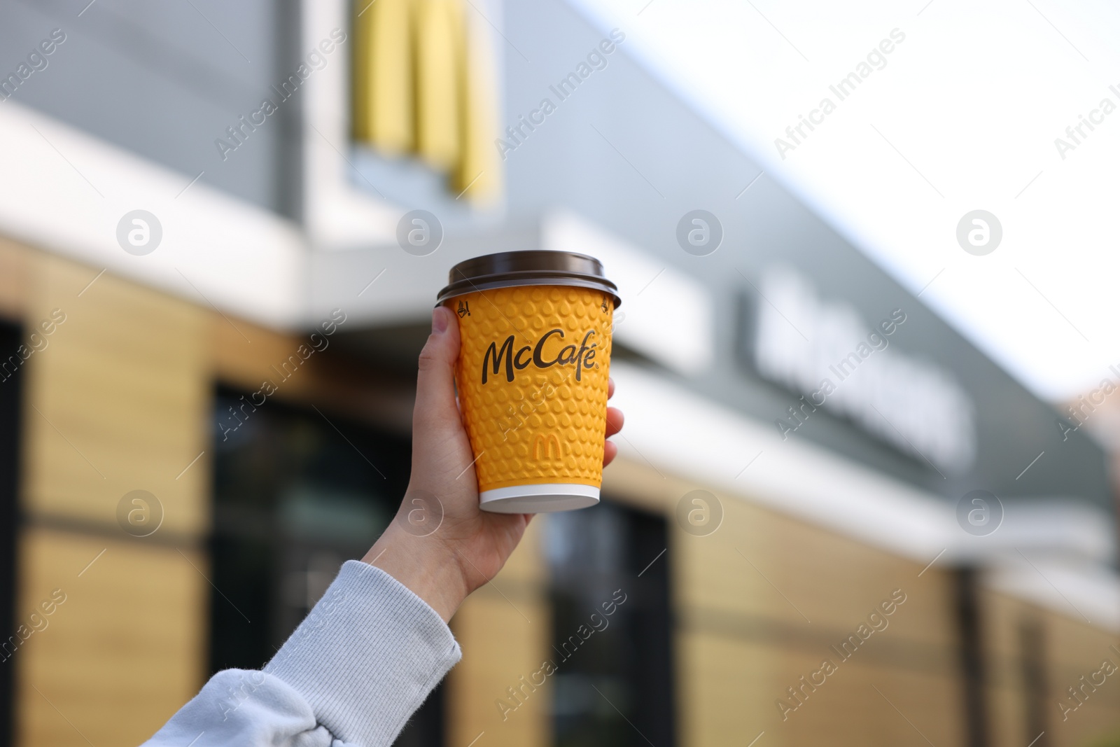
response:
<svg viewBox="0 0 1120 747"><path fill-rule="evenodd" d="M528 249L620 289L620 456L400 745L1118 744L1118 29L0 1L0 744L267 662L400 503L448 270Z"/></svg>

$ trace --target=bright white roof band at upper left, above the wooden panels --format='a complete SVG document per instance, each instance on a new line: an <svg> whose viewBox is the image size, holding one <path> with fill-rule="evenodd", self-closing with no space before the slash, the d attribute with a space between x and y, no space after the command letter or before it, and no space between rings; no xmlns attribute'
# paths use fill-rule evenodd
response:
<svg viewBox="0 0 1120 747"><path fill-rule="evenodd" d="M307 244L295 223L15 101L0 105L0 140L7 236L259 324L305 323ZM141 256L116 241L134 209L162 227Z"/></svg>

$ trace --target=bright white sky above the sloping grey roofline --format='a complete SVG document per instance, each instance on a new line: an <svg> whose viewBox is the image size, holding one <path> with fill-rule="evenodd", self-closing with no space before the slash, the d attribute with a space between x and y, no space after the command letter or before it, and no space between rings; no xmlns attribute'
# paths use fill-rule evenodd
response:
<svg viewBox="0 0 1120 747"><path fill-rule="evenodd" d="M1120 7L570 1L1036 394L1120 383Z"/></svg>

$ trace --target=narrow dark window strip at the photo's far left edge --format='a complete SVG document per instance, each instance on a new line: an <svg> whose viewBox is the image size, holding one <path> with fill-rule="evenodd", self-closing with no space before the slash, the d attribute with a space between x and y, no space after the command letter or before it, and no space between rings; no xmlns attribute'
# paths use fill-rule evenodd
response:
<svg viewBox="0 0 1120 747"><path fill-rule="evenodd" d="M0 324L0 631L16 629L16 530L19 511L19 433L22 358L19 327ZM7 641L7 637L4 638ZM2 656L2 654L0 654ZM0 662L0 746L12 744L12 672L10 662Z"/></svg>

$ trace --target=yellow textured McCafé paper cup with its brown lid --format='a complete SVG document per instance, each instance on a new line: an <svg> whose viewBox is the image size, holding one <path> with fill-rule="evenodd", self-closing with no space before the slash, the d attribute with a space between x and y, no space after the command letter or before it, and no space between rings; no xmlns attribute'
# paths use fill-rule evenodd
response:
<svg viewBox="0 0 1120 747"><path fill-rule="evenodd" d="M573 252L488 254L451 268L438 302L461 338L456 385L482 507L599 502L617 287Z"/></svg>

